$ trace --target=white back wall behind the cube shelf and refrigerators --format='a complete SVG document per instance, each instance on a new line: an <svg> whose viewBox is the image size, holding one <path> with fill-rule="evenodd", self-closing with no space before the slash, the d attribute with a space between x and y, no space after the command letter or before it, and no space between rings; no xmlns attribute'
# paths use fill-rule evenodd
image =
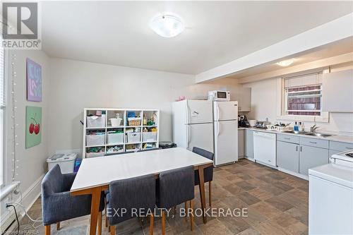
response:
<svg viewBox="0 0 353 235"><path fill-rule="evenodd" d="M49 152L81 148L83 108L160 109L160 140L172 140L171 103L180 95L205 99L208 90L237 88L236 80L194 84L194 76L51 59Z"/></svg>

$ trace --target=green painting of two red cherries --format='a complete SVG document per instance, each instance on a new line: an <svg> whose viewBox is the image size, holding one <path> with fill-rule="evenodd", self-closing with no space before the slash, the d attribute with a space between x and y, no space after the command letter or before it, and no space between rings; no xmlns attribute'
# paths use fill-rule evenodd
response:
<svg viewBox="0 0 353 235"><path fill-rule="evenodd" d="M26 107L25 147L39 145L42 140L42 108Z"/></svg>

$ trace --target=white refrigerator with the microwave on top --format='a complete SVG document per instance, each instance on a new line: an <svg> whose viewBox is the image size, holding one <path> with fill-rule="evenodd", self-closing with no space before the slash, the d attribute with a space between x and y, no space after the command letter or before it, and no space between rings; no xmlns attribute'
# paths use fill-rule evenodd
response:
<svg viewBox="0 0 353 235"><path fill-rule="evenodd" d="M238 161L238 102L213 102L215 166Z"/></svg>

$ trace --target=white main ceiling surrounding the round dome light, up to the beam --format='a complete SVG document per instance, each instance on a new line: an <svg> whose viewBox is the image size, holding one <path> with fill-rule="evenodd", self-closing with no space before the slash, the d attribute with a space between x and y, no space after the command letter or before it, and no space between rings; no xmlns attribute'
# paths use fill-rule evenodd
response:
<svg viewBox="0 0 353 235"><path fill-rule="evenodd" d="M157 13L186 30L163 38ZM42 48L49 56L197 74L353 12L353 1L44 1Z"/></svg>

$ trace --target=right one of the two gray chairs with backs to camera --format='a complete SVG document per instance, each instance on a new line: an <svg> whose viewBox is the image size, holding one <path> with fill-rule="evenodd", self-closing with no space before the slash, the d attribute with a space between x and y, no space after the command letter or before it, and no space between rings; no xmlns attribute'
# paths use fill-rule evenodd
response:
<svg viewBox="0 0 353 235"><path fill-rule="evenodd" d="M193 230L194 193L193 166L163 171L157 180L156 205L162 212L162 235L165 234L165 210L189 201L191 208L191 231ZM187 212L189 215L189 212Z"/></svg>

